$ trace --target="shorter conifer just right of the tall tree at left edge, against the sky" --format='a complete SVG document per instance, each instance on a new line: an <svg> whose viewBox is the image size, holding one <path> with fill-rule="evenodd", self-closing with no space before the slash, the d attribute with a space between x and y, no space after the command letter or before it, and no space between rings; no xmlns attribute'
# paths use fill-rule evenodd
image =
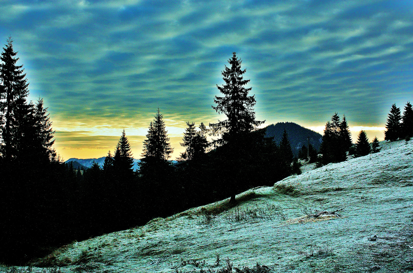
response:
<svg viewBox="0 0 413 273"><path fill-rule="evenodd" d="M52 130L47 107L43 108L43 99L39 98L35 106L34 118L36 121L36 134L40 141L42 154L49 160L55 160L56 151L52 148L55 140L53 139L55 131Z"/></svg>

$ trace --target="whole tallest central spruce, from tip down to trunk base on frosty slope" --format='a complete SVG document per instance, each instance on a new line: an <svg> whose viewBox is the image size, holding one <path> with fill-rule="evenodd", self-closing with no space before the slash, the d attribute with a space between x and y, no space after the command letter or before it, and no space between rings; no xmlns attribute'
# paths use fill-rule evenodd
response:
<svg viewBox="0 0 413 273"><path fill-rule="evenodd" d="M214 141L214 144L225 146L223 153L222 168L227 171L220 179L224 187L231 196L230 203L235 203L235 195L240 190L240 181L244 177L245 167L249 157L248 148L252 145L249 139L251 133L263 121L255 120L254 106L256 104L255 95L248 96L252 87L245 88L250 80L244 80L243 74L246 69L241 69L241 59L237 58L236 52L233 52L232 58L228 60L230 67L225 65L221 72L223 75L224 85L216 87L224 96L215 96L214 103L211 106L217 113L225 114L226 120L217 123L210 123L210 135L222 135L221 139Z"/></svg>

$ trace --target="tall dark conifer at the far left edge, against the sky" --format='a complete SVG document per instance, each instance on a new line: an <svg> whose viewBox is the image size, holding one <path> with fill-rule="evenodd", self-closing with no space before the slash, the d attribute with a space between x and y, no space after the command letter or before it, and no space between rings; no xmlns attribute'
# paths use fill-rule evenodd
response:
<svg viewBox="0 0 413 273"><path fill-rule="evenodd" d="M28 83L23 65L17 66L19 58L15 58L17 52L13 50L13 40L7 39L7 44L3 47L0 60L0 112L1 112L1 153L6 159L13 155L13 131L16 130L17 115L16 108L26 104L28 95ZM20 99L20 100L18 100Z"/></svg>

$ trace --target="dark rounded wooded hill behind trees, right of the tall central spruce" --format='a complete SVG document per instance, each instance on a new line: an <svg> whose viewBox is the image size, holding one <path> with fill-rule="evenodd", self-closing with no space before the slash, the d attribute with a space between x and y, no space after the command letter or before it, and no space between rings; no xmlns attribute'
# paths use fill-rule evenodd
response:
<svg viewBox="0 0 413 273"><path fill-rule="evenodd" d="M314 148L320 150L321 144L321 134L314 132L313 130L307 129L298 125L294 122L278 122L277 124L271 124L266 127L266 136L273 136L277 144L280 143L282 138L282 133L284 129L287 131L288 139L291 143L292 152L295 156L298 155L299 149L305 144L307 146L307 137L310 136L310 143Z"/></svg>

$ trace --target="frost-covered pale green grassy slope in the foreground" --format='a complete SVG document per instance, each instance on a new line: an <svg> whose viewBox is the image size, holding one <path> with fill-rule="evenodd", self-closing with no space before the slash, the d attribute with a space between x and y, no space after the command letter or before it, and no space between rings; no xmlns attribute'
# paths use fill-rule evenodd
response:
<svg viewBox="0 0 413 273"><path fill-rule="evenodd" d="M273 272L413 272L413 140L381 145L251 189L235 207L227 199L74 242L33 271L217 272L228 257L233 272L256 263ZM343 217L300 219L343 207Z"/></svg>

